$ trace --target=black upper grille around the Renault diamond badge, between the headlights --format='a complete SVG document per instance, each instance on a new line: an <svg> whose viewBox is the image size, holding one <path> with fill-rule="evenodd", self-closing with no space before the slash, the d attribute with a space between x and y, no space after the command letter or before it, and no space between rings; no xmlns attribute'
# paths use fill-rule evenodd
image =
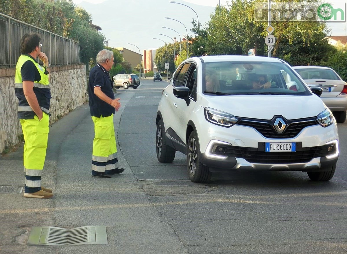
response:
<svg viewBox="0 0 347 254"><path fill-rule="evenodd" d="M286 128L282 133L277 133L273 127L277 117L281 117L286 122ZM275 116L271 120L259 120L251 118L239 118L236 125L248 126L256 129L267 138L293 138L297 136L305 127L318 125L315 117L286 120L282 116Z"/></svg>

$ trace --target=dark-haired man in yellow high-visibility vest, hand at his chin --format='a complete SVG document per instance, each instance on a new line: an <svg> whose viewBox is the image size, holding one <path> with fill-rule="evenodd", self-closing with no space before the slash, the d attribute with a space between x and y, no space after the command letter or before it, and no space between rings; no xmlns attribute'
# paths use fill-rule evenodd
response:
<svg viewBox="0 0 347 254"><path fill-rule="evenodd" d="M49 132L51 89L50 65L46 54L41 52L40 41L37 33L25 34L20 40L22 55L16 65L15 93L25 141L24 197L51 198L52 190L41 186ZM43 67L36 61L37 57L43 62Z"/></svg>

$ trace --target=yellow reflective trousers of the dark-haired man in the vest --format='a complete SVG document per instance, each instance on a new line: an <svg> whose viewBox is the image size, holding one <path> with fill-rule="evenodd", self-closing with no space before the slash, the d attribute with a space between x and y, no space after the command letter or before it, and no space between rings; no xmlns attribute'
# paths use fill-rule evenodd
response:
<svg viewBox="0 0 347 254"><path fill-rule="evenodd" d="M20 119L24 135L24 172L25 193L34 193L41 189L41 175L46 158L49 116L43 112L41 121L34 119Z"/></svg>

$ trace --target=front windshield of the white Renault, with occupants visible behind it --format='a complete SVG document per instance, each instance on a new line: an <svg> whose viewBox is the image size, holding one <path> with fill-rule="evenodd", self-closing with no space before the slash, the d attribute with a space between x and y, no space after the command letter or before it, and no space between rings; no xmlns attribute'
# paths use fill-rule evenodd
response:
<svg viewBox="0 0 347 254"><path fill-rule="evenodd" d="M202 91L208 95L311 95L307 86L280 62L205 62Z"/></svg>

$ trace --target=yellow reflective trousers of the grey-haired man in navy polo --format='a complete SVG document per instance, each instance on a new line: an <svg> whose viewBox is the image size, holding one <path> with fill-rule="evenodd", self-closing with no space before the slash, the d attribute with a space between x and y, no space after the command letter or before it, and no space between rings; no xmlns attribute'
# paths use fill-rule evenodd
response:
<svg viewBox="0 0 347 254"><path fill-rule="evenodd" d="M118 169L117 145L113 114L108 117L94 117L95 137L93 140L92 173Z"/></svg>

